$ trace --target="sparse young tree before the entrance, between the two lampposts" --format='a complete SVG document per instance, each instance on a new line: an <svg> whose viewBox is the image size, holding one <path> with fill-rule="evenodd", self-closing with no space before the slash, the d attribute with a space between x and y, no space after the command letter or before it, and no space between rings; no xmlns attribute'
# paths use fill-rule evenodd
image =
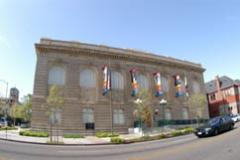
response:
<svg viewBox="0 0 240 160"><path fill-rule="evenodd" d="M136 110L134 115L140 122L146 123L147 127L152 126L152 111L150 107L150 95L145 89L141 89L136 95Z"/></svg>

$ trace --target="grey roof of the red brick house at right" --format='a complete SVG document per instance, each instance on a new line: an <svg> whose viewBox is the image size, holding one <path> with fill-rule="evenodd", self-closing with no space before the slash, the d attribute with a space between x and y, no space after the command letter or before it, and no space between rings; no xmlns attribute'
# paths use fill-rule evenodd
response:
<svg viewBox="0 0 240 160"><path fill-rule="evenodd" d="M220 80L220 88L221 89L228 88L233 85L240 85L239 79L233 80L227 76L222 76L219 78L219 80ZM216 92L217 91L216 80L214 79L210 82L205 83L205 88L206 88L207 93Z"/></svg>

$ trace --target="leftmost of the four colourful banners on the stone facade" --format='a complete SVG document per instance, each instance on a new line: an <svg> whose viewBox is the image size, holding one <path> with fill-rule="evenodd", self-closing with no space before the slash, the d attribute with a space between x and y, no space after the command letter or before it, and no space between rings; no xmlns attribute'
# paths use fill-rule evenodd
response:
<svg viewBox="0 0 240 160"><path fill-rule="evenodd" d="M108 94L108 91L111 90L111 72L107 65L104 65L103 68L103 91L102 95L105 96Z"/></svg>

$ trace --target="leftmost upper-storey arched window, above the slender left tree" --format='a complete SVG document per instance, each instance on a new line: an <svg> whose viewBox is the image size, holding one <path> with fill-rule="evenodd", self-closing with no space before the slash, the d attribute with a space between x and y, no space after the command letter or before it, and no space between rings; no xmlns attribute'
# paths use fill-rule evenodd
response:
<svg viewBox="0 0 240 160"><path fill-rule="evenodd" d="M64 85L65 70L62 67L52 67L48 73L48 84Z"/></svg>

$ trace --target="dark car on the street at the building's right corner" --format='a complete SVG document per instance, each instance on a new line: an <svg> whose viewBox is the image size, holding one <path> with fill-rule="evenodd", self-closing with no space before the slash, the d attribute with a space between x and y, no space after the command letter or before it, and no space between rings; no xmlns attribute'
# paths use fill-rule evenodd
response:
<svg viewBox="0 0 240 160"><path fill-rule="evenodd" d="M206 125L197 128L195 134L198 137L214 136L233 128L234 121L230 116L219 116L210 119Z"/></svg>

